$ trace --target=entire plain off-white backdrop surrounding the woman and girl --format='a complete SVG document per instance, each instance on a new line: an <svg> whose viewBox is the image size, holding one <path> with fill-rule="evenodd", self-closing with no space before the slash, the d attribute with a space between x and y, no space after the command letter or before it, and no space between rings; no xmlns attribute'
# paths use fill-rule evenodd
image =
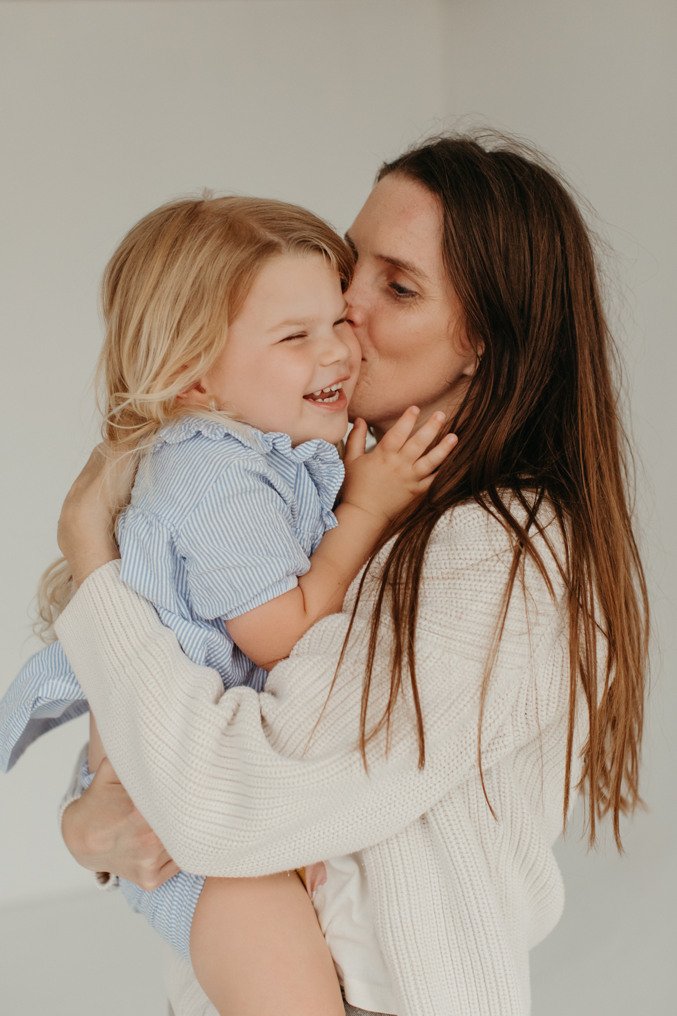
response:
<svg viewBox="0 0 677 1016"><path fill-rule="evenodd" d="M675 28L671 0L0 2L5 534L0 692L96 435L97 287L126 229L208 186L345 229L380 161L458 115L562 165L621 252L639 510L657 620L628 856L557 846L567 906L534 953L535 1014L674 1005ZM0 905L88 885L55 827L83 720L0 777ZM673 851L674 853L674 851Z"/></svg>

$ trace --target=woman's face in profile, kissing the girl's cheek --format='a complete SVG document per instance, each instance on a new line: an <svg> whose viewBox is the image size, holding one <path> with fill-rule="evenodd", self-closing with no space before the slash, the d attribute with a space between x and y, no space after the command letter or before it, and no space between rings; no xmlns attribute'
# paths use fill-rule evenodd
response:
<svg viewBox="0 0 677 1016"><path fill-rule="evenodd" d="M380 437L410 405L450 416L476 356L442 261L442 214L421 184L391 174L347 234L357 256L347 317L362 347L349 407Z"/></svg>

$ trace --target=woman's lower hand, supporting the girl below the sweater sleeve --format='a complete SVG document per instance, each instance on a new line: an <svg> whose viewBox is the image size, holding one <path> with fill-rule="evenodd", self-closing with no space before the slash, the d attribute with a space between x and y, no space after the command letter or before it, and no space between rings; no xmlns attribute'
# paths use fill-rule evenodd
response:
<svg viewBox="0 0 677 1016"><path fill-rule="evenodd" d="M78 865L157 889L179 868L105 758L90 785L63 814L61 832Z"/></svg>

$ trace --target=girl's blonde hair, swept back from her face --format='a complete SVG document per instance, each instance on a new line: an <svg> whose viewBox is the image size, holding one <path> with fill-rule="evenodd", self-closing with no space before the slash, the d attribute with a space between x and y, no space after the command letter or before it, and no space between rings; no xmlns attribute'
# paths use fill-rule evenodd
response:
<svg viewBox="0 0 677 1016"><path fill-rule="evenodd" d="M112 457L126 453L136 466L159 432L191 411L177 395L211 368L261 267L284 254L321 254L344 289L352 277L353 256L333 230L282 201L205 195L164 204L132 227L101 289L97 390ZM45 641L71 594L60 558L39 587L36 630Z"/></svg>

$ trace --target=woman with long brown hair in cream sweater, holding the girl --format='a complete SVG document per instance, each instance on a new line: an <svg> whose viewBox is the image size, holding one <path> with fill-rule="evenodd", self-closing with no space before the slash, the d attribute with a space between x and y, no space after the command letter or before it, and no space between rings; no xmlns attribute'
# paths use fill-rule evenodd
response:
<svg viewBox="0 0 677 1016"><path fill-rule="evenodd" d="M110 767L64 836L147 885L170 855L238 877L361 851L397 1016L528 1013L572 789L591 842L610 812L620 845L638 800L647 597L591 241L549 170L460 136L384 166L349 242L352 411L378 437L443 408L458 451L260 696L220 696L120 583L93 460L59 636L160 840ZM130 729L139 682L155 710Z"/></svg>

